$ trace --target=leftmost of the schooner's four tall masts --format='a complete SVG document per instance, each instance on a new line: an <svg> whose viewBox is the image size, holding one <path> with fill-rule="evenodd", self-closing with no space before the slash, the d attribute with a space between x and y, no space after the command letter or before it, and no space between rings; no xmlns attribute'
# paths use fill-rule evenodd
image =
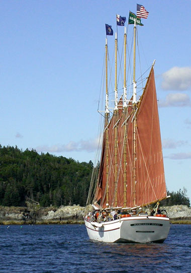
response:
<svg viewBox="0 0 191 273"><path fill-rule="evenodd" d="M109 173L109 159L108 159L108 122L109 122L109 98L108 98L108 41L106 38L106 109L105 109L105 128L106 128L106 206L109 206L109 187L108 187L108 173Z"/></svg>

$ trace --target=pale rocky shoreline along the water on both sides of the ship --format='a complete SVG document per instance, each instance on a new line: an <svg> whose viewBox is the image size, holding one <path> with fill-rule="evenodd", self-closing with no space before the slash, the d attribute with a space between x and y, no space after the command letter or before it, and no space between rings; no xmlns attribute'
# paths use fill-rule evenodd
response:
<svg viewBox="0 0 191 273"><path fill-rule="evenodd" d="M191 208L178 205L163 207L172 224L191 224ZM83 224L84 207L79 205L40 208L0 206L0 224Z"/></svg>

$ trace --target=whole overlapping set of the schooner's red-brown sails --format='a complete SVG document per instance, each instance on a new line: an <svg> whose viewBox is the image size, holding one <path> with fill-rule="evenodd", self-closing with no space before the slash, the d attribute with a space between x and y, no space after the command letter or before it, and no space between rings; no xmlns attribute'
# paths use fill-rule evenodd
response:
<svg viewBox="0 0 191 273"><path fill-rule="evenodd" d="M102 208L143 206L166 196L153 67L137 103L136 113L133 114L132 102L129 102L128 107L122 104L120 100L118 110L114 111L104 131L100 174L94 198ZM135 138L133 133L136 134Z"/></svg>

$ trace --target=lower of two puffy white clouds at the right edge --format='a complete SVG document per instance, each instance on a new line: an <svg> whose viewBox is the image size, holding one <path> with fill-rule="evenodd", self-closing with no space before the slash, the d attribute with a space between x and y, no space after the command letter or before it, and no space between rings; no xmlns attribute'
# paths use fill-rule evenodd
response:
<svg viewBox="0 0 191 273"><path fill-rule="evenodd" d="M191 107L191 101L187 94L171 93L164 101L159 101L159 107Z"/></svg>

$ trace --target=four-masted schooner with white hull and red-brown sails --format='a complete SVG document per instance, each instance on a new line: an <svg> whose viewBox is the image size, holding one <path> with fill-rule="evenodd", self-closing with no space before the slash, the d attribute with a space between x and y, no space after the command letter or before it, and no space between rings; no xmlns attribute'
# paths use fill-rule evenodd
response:
<svg viewBox="0 0 191 273"><path fill-rule="evenodd" d="M154 62L137 98L135 79L137 20L134 19L133 92L127 99L126 47L124 34L124 84L118 100L117 34L115 37L115 99L111 115L108 91L108 43L106 38L106 104L101 160L94 168L84 222L90 239L116 243L162 243L169 232L167 198ZM111 115L111 117L110 117ZM97 173L96 183L94 181Z"/></svg>

